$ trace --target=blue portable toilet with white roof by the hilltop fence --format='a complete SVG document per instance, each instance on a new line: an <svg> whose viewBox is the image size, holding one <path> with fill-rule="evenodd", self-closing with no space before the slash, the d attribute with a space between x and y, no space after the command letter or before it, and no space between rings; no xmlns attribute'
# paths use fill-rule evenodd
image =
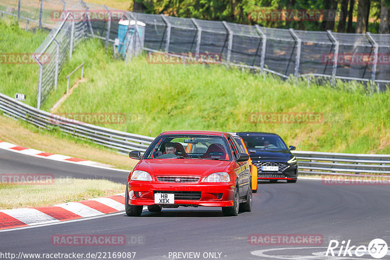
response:
<svg viewBox="0 0 390 260"><path fill-rule="evenodd" d="M119 39L119 45L117 46L117 51L118 53L122 55L126 55L126 46L128 44L128 38L126 37L126 34L129 35L130 41L133 41L135 37L134 32L136 31L136 21L135 20L121 20L118 22L118 39ZM140 38L140 41L136 41L135 45L135 51L138 52L143 48L144 44L144 39L145 39L145 34L144 34L144 29L146 24L137 21L137 26L138 26L138 37ZM128 32L129 30L129 32ZM132 42L130 42L130 48L134 48Z"/></svg>

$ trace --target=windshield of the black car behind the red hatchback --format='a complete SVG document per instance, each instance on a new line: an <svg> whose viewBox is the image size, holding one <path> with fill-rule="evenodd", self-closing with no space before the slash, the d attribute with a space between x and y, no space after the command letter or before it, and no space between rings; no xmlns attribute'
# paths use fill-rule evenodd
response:
<svg viewBox="0 0 390 260"><path fill-rule="evenodd" d="M286 150L287 146L277 135L246 135L241 136L247 149L256 150Z"/></svg>

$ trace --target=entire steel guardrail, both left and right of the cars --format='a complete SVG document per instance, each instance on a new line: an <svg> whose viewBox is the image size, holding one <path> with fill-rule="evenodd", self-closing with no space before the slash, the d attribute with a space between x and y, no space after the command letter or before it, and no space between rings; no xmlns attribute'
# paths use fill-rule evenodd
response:
<svg viewBox="0 0 390 260"><path fill-rule="evenodd" d="M0 110L5 115L18 118L43 129L58 127L59 130L77 138L116 149L120 153L131 150L144 152L154 140L153 137L132 134L95 125L53 117L53 114L38 110L0 93ZM346 176L390 177L389 154L350 154L314 151L293 151L300 174L331 174Z"/></svg>

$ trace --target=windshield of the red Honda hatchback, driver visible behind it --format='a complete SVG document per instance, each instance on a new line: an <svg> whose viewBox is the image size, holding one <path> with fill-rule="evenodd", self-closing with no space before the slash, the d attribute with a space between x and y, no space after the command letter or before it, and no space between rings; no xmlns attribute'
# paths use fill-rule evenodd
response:
<svg viewBox="0 0 390 260"><path fill-rule="evenodd" d="M162 135L146 150L144 159L192 158L228 160L232 154L226 140L210 135Z"/></svg>

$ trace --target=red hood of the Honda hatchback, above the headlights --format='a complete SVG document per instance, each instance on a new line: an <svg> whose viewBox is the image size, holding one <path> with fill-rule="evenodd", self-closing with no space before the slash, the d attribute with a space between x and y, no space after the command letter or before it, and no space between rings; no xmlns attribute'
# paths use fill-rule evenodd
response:
<svg viewBox="0 0 390 260"><path fill-rule="evenodd" d="M230 161L201 159L148 159L138 164L137 170L156 175L189 175L206 177L213 172L224 171Z"/></svg>

